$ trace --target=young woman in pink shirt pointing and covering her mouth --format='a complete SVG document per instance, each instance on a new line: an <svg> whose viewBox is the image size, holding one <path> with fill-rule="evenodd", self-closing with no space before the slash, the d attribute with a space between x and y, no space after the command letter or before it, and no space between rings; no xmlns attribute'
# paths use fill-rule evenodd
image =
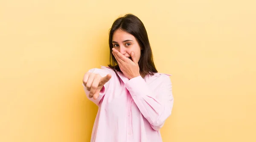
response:
<svg viewBox="0 0 256 142"><path fill-rule="evenodd" d="M143 22L132 14L116 19L109 47L108 67L83 78L85 94L99 106L91 142L162 142L172 84L169 75L157 73Z"/></svg>

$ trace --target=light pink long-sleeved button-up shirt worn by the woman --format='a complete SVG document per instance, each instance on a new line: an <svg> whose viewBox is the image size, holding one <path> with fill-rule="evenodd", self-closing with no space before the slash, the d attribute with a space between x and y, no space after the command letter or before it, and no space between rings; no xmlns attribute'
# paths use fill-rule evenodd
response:
<svg viewBox="0 0 256 142"><path fill-rule="evenodd" d="M88 99L99 106L93 125L91 142L162 142L160 128L171 115L172 83L169 75L155 73L129 80L102 66L91 69L102 77L112 78L104 85L99 97Z"/></svg>

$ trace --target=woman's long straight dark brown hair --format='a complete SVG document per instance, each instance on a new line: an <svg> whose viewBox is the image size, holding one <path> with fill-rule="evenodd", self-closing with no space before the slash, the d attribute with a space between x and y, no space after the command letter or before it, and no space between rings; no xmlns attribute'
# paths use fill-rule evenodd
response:
<svg viewBox="0 0 256 142"><path fill-rule="evenodd" d="M111 67L115 72L121 72L117 64L116 58L112 54L113 33L118 29L121 29L133 35L142 49L140 54L140 60L138 62L140 67L140 75L143 78L146 75L154 75L154 72L157 72L157 69L154 65L153 54L149 44L147 31L145 29L145 26L143 25L143 22L141 22L141 20L133 14L126 14L125 16L119 17L113 22L113 25L109 32L108 40L110 48L110 64L108 65L108 67Z"/></svg>

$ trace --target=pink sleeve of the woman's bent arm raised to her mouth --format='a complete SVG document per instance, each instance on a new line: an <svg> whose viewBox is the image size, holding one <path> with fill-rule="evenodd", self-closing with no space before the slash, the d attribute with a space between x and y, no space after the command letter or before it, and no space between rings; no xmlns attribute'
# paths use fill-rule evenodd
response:
<svg viewBox="0 0 256 142"><path fill-rule="evenodd" d="M141 76L132 78L125 86L140 112L151 127L158 131L172 113L173 96L172 83L168 75L161 74L155 81L154 84L160 82L157 91L151 90Z"/></svg>

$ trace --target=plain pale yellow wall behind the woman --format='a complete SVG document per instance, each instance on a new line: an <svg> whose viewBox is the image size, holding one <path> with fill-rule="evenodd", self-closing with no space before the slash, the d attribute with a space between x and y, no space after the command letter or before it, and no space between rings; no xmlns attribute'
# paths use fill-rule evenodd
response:
<svg viewBox="0 0 256 142"><path fill-rule="evenodd" d="M126 13L173 75L163 142L256 142L255 0L1 0L0 142L90 141L82 77Z"/></svg>

